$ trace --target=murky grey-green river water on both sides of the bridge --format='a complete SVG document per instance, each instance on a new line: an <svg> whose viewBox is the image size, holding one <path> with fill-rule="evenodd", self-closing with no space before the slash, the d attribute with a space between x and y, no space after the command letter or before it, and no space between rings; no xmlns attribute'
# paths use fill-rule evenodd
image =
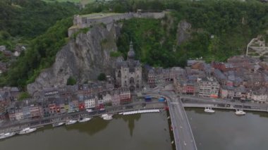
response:
<svg viewBox="0 0 268 150"><path fill-rule="evenodd" d="M268 113L237 116L234 111L204 113L186 109L198 150L267 150ZM43 127L30 135L0 141L8 150L171 150L166 113L115 115L113 120L93 118L88 123Z"/></svg>

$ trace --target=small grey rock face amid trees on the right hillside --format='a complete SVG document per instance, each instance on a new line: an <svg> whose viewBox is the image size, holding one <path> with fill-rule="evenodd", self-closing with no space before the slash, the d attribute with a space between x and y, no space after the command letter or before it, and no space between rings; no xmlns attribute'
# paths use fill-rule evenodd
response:
<svg viewBox="0 0 268 150"><path fill-rule="evenodd" d="M178 23L177 28L177 44L180 45L183 42L187 41L190 38L190 29L192 25L187 23L185 20L181 20Z"/></svg>

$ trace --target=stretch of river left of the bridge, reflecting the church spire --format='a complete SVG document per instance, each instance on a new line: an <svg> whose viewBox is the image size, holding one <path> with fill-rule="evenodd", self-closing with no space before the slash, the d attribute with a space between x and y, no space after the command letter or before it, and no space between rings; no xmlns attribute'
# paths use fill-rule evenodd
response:
<svg viewBox="0 0 268 150"><path fill-rule="evenodd" d="M166 112L115 115L113 120L93 118L88 123L39 128L29 135L0 141L8 150L163 150L171 149Z"/></svg>

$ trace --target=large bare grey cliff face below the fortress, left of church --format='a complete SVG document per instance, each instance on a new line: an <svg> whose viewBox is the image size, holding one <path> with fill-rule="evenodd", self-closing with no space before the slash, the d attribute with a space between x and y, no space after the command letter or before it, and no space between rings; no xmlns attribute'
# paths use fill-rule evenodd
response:
<svg viewBox="0 0 268 150"><path fill-rule="evenodd" d="M63 87L70 76L84 82L97 79L99 73L113 73L116 58L111 58L110 52L117 51L119 34L120 25L116 23L95 25L86 34L81 32L56 54L54 65L27 86L28 92L35 95L45 88Z"/></svg>

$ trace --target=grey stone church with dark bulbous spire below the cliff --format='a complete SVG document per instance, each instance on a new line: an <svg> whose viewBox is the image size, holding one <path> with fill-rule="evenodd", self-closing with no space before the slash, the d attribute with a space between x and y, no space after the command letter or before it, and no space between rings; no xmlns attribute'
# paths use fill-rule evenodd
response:
<svg viewBox="0 0 268 150"><path fill-rule="evenodd" d="M126 87L133 92L142 86L142 67L140 61L135 60L133 43L130 42L128 58L126 61L118 61L116 64L116 84Z"/></svg>

